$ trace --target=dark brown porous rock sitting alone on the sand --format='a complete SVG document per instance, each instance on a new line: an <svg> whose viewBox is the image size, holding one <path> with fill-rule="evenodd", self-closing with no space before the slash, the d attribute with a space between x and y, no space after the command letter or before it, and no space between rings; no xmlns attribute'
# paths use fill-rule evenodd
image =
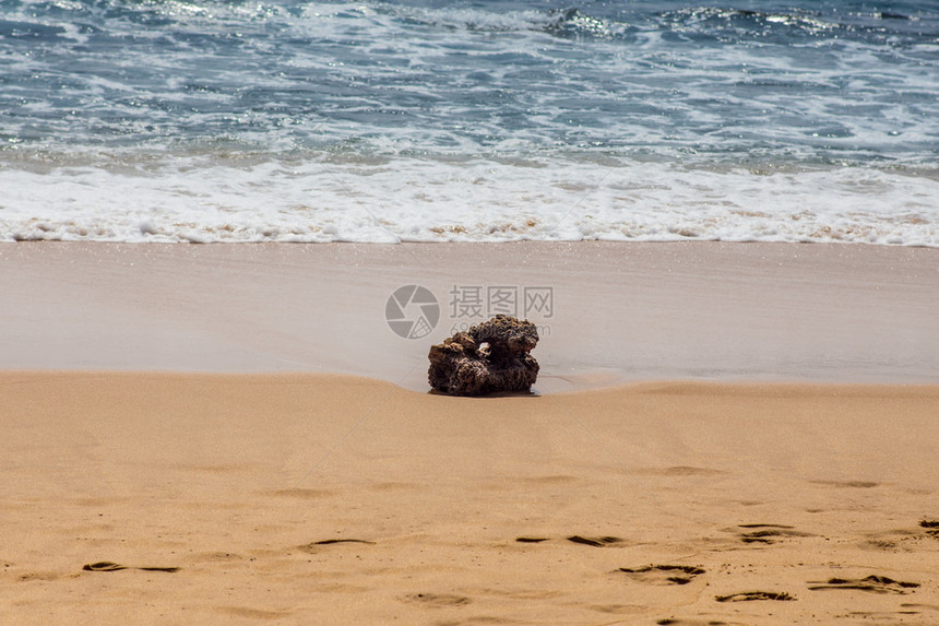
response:
<svg viewBox="0 0 939 626"><path fill-rule="evenodd" d="M537 343L528 320L496 316L430 346L430 387L451 395L528 391L538 378L530 354Z"/></svg>

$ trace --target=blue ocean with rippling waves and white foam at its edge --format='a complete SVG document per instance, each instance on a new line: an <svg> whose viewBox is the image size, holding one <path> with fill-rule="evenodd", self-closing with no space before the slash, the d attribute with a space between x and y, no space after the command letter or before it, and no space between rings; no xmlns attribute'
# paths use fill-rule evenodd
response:
<svg viewBox="0 0 939 626"><path fill-rule="evenodd" d="M939 246L935 0L0 0L0 240Z"/></svg>

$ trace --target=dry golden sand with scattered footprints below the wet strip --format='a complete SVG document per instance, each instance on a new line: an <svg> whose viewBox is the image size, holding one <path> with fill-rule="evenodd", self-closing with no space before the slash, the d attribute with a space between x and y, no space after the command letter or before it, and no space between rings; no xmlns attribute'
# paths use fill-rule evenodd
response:
<svg viewBox="0 0 939 626"><path fill-rule="evenodd" d="M936 386L0 390L2 624L939 623Z"/></svg>

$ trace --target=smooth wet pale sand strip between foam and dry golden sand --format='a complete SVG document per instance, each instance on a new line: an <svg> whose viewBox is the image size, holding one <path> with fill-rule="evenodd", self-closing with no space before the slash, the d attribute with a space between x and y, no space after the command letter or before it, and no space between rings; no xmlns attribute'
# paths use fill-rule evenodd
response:
<svg viewBox="0 0 939 626"><path fill-rule="evenodd" d="M440 316L414 340L385 319L409 284ZM502 287L545 331L533 354L551 393L939 382L939 249L714 241L0 245L0 369L319 371L426 390L429 345L488 319ZM550 292L550 311L521 310L528 288Z"/></svg>

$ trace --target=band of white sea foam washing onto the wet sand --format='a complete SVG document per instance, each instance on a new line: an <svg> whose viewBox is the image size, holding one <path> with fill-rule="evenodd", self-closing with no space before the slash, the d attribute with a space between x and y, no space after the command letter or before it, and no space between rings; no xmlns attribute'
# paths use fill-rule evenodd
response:
<svg viewBox="0 0 939 626"><path fill-rule="evenodd" d="M0 170L0 240L762 240L939 247L939 180L626 160Z"/></svg>

